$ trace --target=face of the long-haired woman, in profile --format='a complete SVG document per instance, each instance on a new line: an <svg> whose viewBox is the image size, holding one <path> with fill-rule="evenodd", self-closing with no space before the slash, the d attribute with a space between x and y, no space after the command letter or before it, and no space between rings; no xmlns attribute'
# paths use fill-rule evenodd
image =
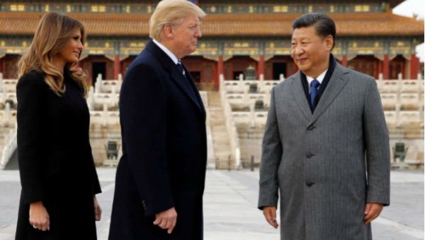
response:
<svg viewBox="0 0 425 240"><path fill-rule="evenodd" d="M68 40L68 44L59 53L57 53L55 60L62 61L64 64L77 63L83 49L84 46L81 42L81 30L76 29L72 33L71 39Z"/></svg>

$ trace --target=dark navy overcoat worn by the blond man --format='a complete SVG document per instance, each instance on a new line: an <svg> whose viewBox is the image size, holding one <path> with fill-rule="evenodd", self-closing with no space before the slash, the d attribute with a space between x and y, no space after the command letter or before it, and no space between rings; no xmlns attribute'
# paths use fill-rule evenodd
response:
<svg viewBox="0 0 425 240"><path fill-rule="evenodd" d="M127 70L110 240L203 239L205 109L186 76L152 41ZM172 207L177 223L167 234L152 222Z"/></svg>

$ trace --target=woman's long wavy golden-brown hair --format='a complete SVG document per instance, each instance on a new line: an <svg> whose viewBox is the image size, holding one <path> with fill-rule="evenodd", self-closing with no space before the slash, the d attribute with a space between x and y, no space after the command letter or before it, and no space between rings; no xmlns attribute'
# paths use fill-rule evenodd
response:
<svg viewBox="0 0 425 240"><path fill-rule="evenodd" d="M47 13L42 16L35 29L33 42L18 61L18 78L31 70L42 71L45 73L45 83L53 92L61 95L65 92L62 73L65 70L69 71L86 95L86 73L77 68L78 63L66 64L65 69L59 69L53 64L53 57L67 47L69 40L74 37L75 30L80 30L81 44L84 45L86 42L84 25L78 20L60 13Z"/></svg>

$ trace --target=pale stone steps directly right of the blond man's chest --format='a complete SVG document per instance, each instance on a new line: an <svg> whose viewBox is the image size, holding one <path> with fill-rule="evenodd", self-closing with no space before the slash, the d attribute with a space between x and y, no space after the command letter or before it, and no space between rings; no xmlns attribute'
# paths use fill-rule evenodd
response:
<svg viewBox="0 0 425 240"><path fill-rule="evenodd" d="M208 92L208 109L212 143L214 145L215 167L217 169L227 169L229 167L230 143L219 92Z"/></svg>

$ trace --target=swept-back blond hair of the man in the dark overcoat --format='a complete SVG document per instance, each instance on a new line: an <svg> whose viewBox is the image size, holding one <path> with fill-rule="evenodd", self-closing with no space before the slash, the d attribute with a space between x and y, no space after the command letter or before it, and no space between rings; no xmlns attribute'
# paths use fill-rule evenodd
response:
<svg viewBox="0 0 425 240"><path fill-rule="evenodd" d="M188 16L202 19L205 15L202 9L187 0L160 1L149 20L149 37L161 42L165 25L180 25Z"/></svg>

